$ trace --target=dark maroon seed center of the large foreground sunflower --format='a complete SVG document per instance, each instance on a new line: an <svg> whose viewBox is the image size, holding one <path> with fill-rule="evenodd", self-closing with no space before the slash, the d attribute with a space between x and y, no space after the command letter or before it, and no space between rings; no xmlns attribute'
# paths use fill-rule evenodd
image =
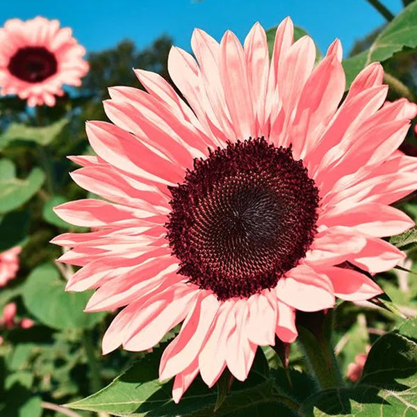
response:
<svg viewBox="0 0 417 417"><path fill-rule="evenodd" d="M167 238L179 273L220 300L274 287L316 232L314 181L291 149L264 138L195 159L170 191Z"/></svg>

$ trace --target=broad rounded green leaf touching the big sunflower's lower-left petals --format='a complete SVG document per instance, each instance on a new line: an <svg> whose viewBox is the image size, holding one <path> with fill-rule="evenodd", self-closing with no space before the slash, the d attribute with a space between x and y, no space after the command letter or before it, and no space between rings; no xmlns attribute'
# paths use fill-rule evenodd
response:
<svg viewBox="0 0 417 417"><path fill-rule="evenodd" d="M101 321L105 313L84 313L91 291L65 292L65 283L53 265L35 268L23 288L26 309L44 325L54 329L88 329Z"/></svg>

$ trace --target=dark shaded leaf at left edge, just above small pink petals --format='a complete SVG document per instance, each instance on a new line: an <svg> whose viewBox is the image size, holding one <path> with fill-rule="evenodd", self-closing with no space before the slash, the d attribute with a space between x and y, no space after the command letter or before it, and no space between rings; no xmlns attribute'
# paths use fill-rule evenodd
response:
<svg viewBox="0 0 417 417"><path fill-rule="evenodd" d="M0 252L10 247L20 246L26 240L26 231L29 224L27 211L13 211L0 215Z"/></svg>

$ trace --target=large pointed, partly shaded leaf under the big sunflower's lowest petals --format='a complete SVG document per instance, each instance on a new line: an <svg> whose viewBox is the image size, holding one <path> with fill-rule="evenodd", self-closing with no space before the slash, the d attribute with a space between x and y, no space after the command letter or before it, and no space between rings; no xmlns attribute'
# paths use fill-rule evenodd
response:
<svg viewBox="0 0 417 417"><path fill-rule="evenodd" d="M160 352L146 355L110 385L69 407L89 411L106 411L115 416L213 416L218 395L197 378L181 398L179 404L172 400L172 382L158 381ZM296 404L274 386L268 376L268 363L261 350L256 354L245 383L234 381L231 391L222 399L215 416L295 416L283 404Z"/></svg>

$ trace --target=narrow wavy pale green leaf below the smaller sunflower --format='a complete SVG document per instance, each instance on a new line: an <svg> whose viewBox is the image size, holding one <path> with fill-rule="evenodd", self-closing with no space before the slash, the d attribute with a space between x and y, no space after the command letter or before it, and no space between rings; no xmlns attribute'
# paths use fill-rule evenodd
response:
<svg viewBox="0 0 417 417"><path fill-rule="evenodd" d="M63 130L68 123L67 118L58 120L44 127L26 126L22 123L12 123L9 128L0 135L0 149L5 148L15 140L26 140L38 143L38 145L49 145Z"/></svg>

